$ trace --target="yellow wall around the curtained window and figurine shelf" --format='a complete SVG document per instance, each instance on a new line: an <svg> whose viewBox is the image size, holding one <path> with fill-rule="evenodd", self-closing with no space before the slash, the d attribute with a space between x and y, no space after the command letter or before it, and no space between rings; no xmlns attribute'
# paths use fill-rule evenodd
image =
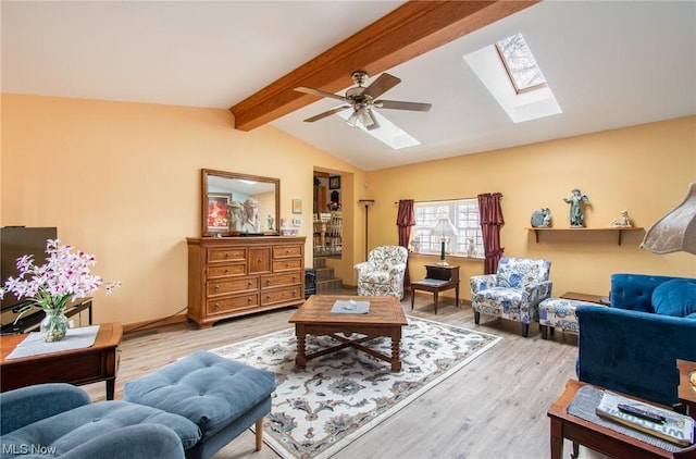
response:
<svg viewBox="0 0 696 459"><path fill-rule="evenodd" d="M568 290L607 295L616 272L696 276L696 257L658 256L638 249L644 231L624 233L544 233L536 244L525 231L534 210L548 207L556 227L569 226L562 198L581 188L588 195L587 227L607 226L627 210L635 226L647 230L686 196L696 182L696 116L462 156L368 174L370 245L396 244L399 199L417 201L475 197L500 191L506 224L505 255L551 260L554 295ZM411 278L437 257L413 255ZM469 277L483 272L481 261L449 258L459 264L462 297L470 299Z"/></svg>

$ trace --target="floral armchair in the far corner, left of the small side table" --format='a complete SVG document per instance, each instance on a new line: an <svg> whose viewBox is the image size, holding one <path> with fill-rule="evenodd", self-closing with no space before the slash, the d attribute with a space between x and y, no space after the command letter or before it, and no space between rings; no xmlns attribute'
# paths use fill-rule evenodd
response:
<svg viewBox="0 0 696 459"><path fill-rule="evenodd" d="M403 273L409 252L401 246L380 246L372 249L368 261L355 265L358 273L358 295L403 298Z"/></svg>

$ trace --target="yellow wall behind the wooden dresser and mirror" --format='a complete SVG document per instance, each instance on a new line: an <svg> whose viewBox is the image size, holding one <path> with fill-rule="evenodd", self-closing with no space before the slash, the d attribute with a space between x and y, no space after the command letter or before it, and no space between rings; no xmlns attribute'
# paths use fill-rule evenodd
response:
<svg viewBox="0 0 696 459"><path fill-rule="evenodd" d="M7 94L0 162L0 225L57 226L63 243L95 253L94 272L123 283L96 295L95 319L125 324L186 309L185 238L201 232L201 169L281 178L281 215L302 219L308 266L313 169L339 172L350 196L350 179L363 176L271 126L235 131L226 110ZM302 214L291 213L293 198ZM341 274L351 275L351 250L349 241Z"/></svg>

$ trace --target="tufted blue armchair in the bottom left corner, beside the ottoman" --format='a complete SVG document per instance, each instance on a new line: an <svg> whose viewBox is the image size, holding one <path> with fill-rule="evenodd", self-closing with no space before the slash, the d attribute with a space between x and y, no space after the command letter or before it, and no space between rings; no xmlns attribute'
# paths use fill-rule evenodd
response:
<svg viewBox="0 0 696 459"><path fill-rule="evenodd" d="M121 400L91 404L70 384L39 384L0 394L2 457L184 459L200 438L177 414Z"/></svg>

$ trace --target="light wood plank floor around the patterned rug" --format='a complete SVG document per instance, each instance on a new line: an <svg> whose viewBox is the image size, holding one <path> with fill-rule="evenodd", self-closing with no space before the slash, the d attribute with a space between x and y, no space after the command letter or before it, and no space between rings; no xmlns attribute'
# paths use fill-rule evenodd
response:
<svg viewBox="0 0 696 459"><path fill-rule="evenodd" d="M346 293L346 291L339 291ZM457 308L440 299L437 315L432 296L417 294L411 311L407 294L401 302L407 314L465 328L492 333L504 339L459 372L445 380L345 449L336 459L539 459L549 455L548 407L575 377L576 336L557 332L548 340L538 326L523 338L517 322L482 315L474 324L470 306ZM123 398L126 381L149 373L198 349L288 328L294 308L259 313L197 330L177 324L156 331L134 332L121 344L116 399ZM104 399L103 384L84 386L95 401ZM274 459L266 445L254 451L250 431L235 438L214 458ZM566 442L564 457L571 451ZM605 456L581 448L581 459Z"/></svg>

